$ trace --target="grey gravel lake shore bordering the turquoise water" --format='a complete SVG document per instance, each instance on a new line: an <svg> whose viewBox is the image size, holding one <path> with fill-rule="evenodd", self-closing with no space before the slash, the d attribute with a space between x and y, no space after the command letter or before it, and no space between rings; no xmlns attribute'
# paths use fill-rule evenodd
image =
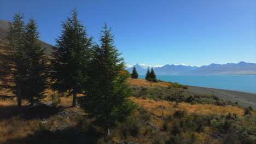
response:
<svg viewBox="0 0 256 144"><path fill-rule="evenodd" d="M210 94L216 95L220 99L229 100L232 102L238 102L243 106L252 106L253 109L256 109L256 94L231 91L226 89L216 89L216 88L207 88L207 87L197 87L197 86L188 86L188 89L185 91L196 93L196 94Z"/></svg>

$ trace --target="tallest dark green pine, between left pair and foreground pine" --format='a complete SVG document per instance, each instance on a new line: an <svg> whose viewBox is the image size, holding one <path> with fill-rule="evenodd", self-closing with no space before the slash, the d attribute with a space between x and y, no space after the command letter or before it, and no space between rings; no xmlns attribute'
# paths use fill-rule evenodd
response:
<svg viewBox="0 0 256 144"><path fill-rule="evenodd" d="M88 38L85 27L78 21L77 9L62 22L62 34L56 40L54 59L51 61L51 88L73 94L72 106L76 106L77 94L82 93L86 81L86 69L91 57L92 37Z"/></svg>

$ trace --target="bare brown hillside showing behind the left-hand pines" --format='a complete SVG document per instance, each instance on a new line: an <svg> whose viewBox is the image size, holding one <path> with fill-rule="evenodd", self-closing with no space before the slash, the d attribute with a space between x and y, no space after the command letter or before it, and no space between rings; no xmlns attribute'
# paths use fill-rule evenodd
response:
<svg viewBox="0 0 256 144"><path fill-rule="evenodd" d="M4 38L7 36L9 32L9 21L0 20L0 45L3 44ZM53 45L47 44L42 40L39 40L41 43L42 49L45 49L45 53L50 55L53 50Z"/></svg>

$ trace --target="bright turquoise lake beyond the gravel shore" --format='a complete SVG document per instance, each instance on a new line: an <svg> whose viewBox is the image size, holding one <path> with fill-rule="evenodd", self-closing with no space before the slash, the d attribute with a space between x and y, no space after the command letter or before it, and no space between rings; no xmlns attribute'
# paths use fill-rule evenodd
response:
<svg viewBox="0 0 256 144"><path fill-rule="evenodd" d="M138 78L145 79L145 75ZM156 78L182 85L256 93L256 75L158 75Z"/></svg>

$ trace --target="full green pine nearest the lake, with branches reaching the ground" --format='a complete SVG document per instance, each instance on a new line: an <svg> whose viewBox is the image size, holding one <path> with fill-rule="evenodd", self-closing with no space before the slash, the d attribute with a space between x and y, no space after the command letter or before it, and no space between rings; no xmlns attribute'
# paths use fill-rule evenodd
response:
<svg viewBox="0 0 256 144"><path fill-rule="evenodd" d="M94 118L94 124L102 127L106 134L109 129L125 122L135 110L129 99L131 91L126 83L127 77L121 73L124 59L115 49L111 29L105 26L101 31L101 46L94 46L94 58L90 64L89 85L84 97L79 97L79 105Z"/></svg>

